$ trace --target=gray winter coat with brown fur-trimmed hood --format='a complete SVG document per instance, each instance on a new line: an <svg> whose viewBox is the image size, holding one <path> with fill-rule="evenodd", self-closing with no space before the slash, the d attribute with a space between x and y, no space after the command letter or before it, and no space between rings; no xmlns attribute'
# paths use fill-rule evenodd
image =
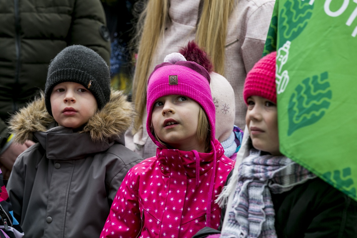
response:
<svg viewBox="0 0 357 238"><path fill-rule="evenodd" d="M38 141L17 158L7 184L25 237L99 237L122 179L142 160L124 146L133 116L125 99L112 92L81 132L51 128L43 98L12 118L17 141Z"/></svg>

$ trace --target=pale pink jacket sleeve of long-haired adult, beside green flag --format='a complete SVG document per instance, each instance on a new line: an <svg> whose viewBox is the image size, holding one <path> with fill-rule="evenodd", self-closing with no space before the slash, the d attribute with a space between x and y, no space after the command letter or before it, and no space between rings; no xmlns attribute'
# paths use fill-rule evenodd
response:
<svg viewBox="0 0 357 238"><path fill-rule="evenodd" d="M259 6L250 16L248 16L246 21L246 34L241 50L247 73L262 57L274 3L275 1L268 1Z"/></svg>

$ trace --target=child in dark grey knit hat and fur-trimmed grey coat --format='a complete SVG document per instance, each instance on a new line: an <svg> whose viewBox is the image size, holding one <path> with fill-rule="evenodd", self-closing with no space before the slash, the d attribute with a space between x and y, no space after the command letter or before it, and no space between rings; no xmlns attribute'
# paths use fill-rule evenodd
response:
<svg viewBox="0 0 357 238"><path fill-rule="evenodd" d="M142 160L124 146L133 115L96 52L74 45L52 60L44 95L10 121L16 141L38 141L7 184L26 237L99 237L122 179Z"/></svg>

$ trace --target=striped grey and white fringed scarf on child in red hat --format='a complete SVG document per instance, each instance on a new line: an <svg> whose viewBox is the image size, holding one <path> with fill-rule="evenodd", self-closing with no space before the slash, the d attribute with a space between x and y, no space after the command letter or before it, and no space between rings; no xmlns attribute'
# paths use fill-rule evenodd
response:
<svg viewBox="0 0 357 238"><path fill-rule="evenodd" d="M261 155L250 150L238 168L238 182L227 208L221 238L275 238L275 211L272 193L289 191L315 174L285 156Z"/></svg>

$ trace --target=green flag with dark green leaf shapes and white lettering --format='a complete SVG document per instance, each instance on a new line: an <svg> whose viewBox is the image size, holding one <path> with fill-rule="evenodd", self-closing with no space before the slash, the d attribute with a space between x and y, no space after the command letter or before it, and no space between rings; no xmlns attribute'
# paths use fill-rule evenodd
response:
<svg viewBox="0 0 357 238"><path fill-rule="evenodd" d="M357 201L357 0L276 0L280 151Z"/></svg>

